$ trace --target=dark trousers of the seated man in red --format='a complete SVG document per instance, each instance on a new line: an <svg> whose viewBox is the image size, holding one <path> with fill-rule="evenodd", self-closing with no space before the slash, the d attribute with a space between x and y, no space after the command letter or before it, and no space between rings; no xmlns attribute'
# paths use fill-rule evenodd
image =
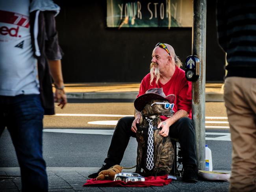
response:
<svg viewBox="0 0 256 192"><path fill-rule="evenodd" d="M136 137L136 133L131 130L133 121L134 117L123 117L118 121L105 163L120 164L130 137ZM192 120L187 117L180 118L170 126L169 137L179 139L184 166L196 165L195 130Z"/></svg>

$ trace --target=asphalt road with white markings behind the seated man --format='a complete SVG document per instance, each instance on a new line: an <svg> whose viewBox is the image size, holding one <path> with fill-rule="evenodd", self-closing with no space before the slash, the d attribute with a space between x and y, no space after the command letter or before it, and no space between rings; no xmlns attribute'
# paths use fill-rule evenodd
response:
<svg viewBox="0 0 256 192"><path fill-rule="evenodd" d="M111 124L115 124L121 116L132 115L133 103L120 100L104 101L104 103L101 100L95 103L77 100L70 102L72 103L63 110L56 107L58 116L44 118L44 131L51 131L44 132L43 135L43 155L46 165L48 167L100 167L111 142L111 131L113 132L115 128L115 125ZM226 117L224 103L207 102L206 117ZM226 121L226 119L206 119L206 126L227 127ZM88 124L88 122L95 124ZM68 133L57 133L56 129L57 131L71 130L67 131ZM77 129L82 132L74 133ZM206 128L208 138L206 144L212 151L214 170L230 170L232 146L228 136L225 136L228 134L228 128ZM131 138L121 165L135 165L136 153L137 142L135 138ZM18 166L11 138L5 130L0 137L0 167Z"/></svg>

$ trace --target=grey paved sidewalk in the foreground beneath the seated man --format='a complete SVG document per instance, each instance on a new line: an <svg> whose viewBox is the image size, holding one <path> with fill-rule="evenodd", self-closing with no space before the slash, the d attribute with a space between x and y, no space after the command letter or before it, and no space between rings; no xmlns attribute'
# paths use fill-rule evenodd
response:
<svg viewBox="0 0 256 192"><path fill-rule="evenodd" d="M169 185L161 187L92 187L86 183L87 175L96 172L99 168L89 167L48 167L49 192L228 192L229 182L212 182L200 180L198 183L185 183L178 177ZM130 170L129 172L134 172ZM126 170L123 172L127 172ZM0 168L0 191L17 192L21 190L21 180L19 168Z"/></svg>

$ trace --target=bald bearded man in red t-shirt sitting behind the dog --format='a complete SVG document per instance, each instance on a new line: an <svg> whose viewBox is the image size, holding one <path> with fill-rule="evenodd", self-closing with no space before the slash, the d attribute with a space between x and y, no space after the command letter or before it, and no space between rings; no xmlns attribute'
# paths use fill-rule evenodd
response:
<svg viewBox="0 0 256 192"><path fill-rule="evenodd" d="M184 173L182 180L189 183L198 182L197 161L195 150L195 130L191 120L191 82L187 81L185 72L180 68L182 63L169 44L158 43L152 52L150 73L141 81L139 94L145 94L148 89L163 88L165 95L174 94L174 115L161 116L160 135L163 137L178 138L182 151ZM136 137L137 127L141 118L141 111L134 109L134 117L121 118L111 140L105 165L97 173L88 177L96 178L101 170L120 164L130 137Z"/></svg>

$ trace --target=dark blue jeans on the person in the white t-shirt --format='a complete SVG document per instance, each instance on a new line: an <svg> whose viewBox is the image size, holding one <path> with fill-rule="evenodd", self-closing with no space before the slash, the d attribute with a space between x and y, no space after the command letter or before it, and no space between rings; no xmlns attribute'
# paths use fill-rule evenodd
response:
<svg viewBox="0 0 256 192"><path fill-rule="evenodd" d="M0 130L7 127L11 135L24 192L48 191L42 151L43 115L37 94L0 96Z"/></svg>

